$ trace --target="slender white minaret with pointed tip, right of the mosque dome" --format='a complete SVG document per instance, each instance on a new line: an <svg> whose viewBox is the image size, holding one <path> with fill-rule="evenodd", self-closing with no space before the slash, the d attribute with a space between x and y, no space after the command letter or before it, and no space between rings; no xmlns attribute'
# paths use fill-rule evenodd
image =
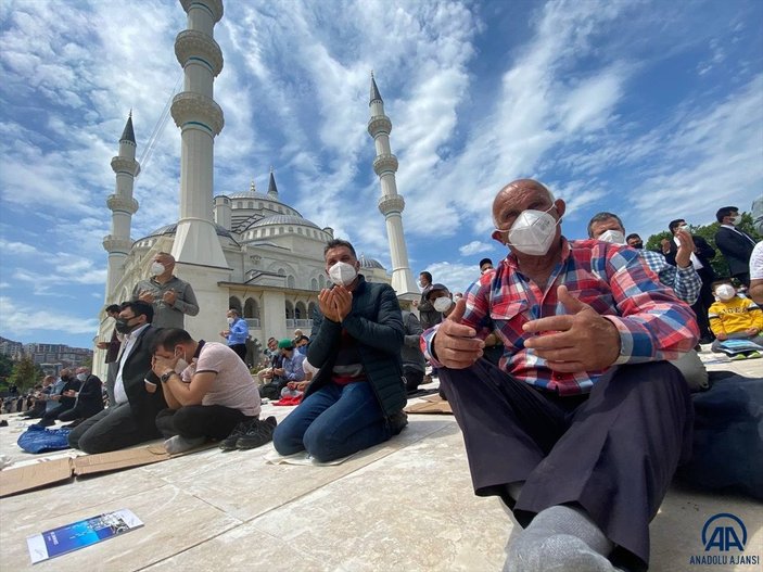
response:
<svg viewBox="0 0 763 572"><path fill-rule="evenodd" d="M390 255L392 257L392 288L398 296L405 294L419 295L419 289L408 266L408 247L403 234L403 209L405 201L397 194L395 173L397 171L397 157L390 148L390 131L392 122L384 115L384 102L379 93L377 81L371 73L371 118L368 122L368 132L373 138L377 148L377 158L373 160L373 170L379 176L382 195L379 199L379 211L386 221L386 237L390 241Z"/></svg>

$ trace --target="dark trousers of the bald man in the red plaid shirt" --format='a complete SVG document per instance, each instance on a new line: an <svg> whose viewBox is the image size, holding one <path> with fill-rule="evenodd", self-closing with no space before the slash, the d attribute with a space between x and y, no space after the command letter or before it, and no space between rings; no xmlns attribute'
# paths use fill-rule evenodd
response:
<svg viewBox="0 0 763 572"><path fill-rule="evenodd" d="M463 432L475 494L498 495L526 526L551 506L581 506L618 548L615 565L645 570L649 521L691 447L691 403L677 369L613 368L588 396L542 393L485 359L440 369ZM523 482L517 499L507 485Z"/></svg>

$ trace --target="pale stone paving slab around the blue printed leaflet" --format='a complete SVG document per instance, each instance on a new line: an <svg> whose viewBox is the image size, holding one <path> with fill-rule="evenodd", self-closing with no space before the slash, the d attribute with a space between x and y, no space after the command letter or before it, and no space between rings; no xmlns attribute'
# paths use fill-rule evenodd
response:
<svg viewBox="0 0 763 572"><path fill-rule="evenodd" d="M130 471L133 473L135 471ZM75 493L71 487L58 487L58 494L69 495L69 506L50 509L37 494L27 499L27 508L38 510L37 518L7 519L3 514L0 530L3 570L33 570L26 547L26 537L46 530L61 526L77 520L101 514L110 510L129 508L144 526L124 536L60 556L46 562L35 564L35 572L81 572L82 570L109 570L110 572L138 570L153 562L163 560L192 546L236 526L237 519L225 514L192 495L171 486L154 486L149 491L139 491L126 496L125 490L131 484L127 481L128 472L118 473L124 479L120 490L107 487L104 478L98 479L103 493L110 500L92 505L89 499ZM129 474L132 476L132 474ZM145 475L143 475L145 476ZM96 482L96 480L93 480ZM111 483L114 484L114 483ZM92 493L92 491L90 491ZM119 498L119 496L122 498ZM117 500L112 500L118 498ZM71 510L77 500L88 505L87 508ZM2 501L4 507L7 500ZM47 510L46 510L47 509ZM47 513L46 513L47 512ZM41 516L40 516L41 514Z"/></svg>

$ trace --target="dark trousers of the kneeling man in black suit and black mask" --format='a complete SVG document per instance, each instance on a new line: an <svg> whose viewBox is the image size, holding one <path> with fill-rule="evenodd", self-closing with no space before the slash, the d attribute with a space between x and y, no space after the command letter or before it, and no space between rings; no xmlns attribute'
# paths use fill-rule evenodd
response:
<svg viewBox="0 0 763 572"><path fill-rule="evenodd" d="M115 405L86 419L68 434L68 444L85 453L119 450L160 437L156 427L141 425L130 410L130 404Z"/></svg>

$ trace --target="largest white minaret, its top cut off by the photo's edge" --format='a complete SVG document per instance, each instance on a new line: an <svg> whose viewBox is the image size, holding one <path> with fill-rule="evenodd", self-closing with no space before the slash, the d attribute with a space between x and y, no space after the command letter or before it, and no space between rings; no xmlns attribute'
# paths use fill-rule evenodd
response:
<svg viewBox="0 0 763 572"><path fill-rule="evenodd" d="M221 0L180 0L188 29L175 38L183 68L183 91L173 100L171 114L181 131L180 219L173 255L179 263L226 268L212 215L215 137L222 130L222 110L213 99L222 52L213 34L222 17Z"/></svg>

